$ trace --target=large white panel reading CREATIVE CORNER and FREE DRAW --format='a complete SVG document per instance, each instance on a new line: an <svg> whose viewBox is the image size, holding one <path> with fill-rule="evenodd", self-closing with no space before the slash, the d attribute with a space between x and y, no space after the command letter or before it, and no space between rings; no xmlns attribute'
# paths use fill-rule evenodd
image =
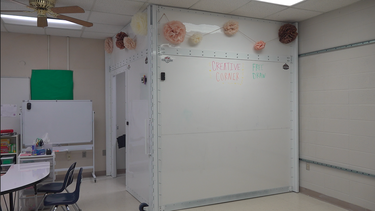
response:
<svg viewBox="0 0 375 211"><path fill-rule="evenodd" d="M291 186L290 69L170 59L158 60L163 205Z"/></svg>

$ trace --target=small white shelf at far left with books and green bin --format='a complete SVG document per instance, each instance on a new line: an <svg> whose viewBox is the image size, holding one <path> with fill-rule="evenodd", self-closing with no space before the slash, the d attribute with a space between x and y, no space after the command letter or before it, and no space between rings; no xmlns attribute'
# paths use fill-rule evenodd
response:
<svg viewBox="0 0 375 211"><path fill-rule="evenodd" d="M17 157L18 154L20 154L20 134L15 134L14 136L1 136L0 139L1 142L3 142L3 140L6 141L8 145L8 151L12 150L13 148L12 152L1 153L1 173L6 173L10 166L17 163ZM13 157L13 160L11 159L11 157Z"/></svg>

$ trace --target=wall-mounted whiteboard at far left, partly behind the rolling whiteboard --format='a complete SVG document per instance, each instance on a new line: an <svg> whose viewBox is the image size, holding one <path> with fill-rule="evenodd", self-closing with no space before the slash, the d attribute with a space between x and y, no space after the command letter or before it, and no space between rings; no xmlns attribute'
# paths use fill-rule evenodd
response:
<svg viewBox="0 0 375 211"><path fill-rule="evenodd" d="M21 133L20 107L30 99L30 78L1 77L1 130L13 129ZM16 105L15 116L10 115L10 105ZM4 109L4 110L3 110ZM3 112L6 112L3 115Z"/></svg>

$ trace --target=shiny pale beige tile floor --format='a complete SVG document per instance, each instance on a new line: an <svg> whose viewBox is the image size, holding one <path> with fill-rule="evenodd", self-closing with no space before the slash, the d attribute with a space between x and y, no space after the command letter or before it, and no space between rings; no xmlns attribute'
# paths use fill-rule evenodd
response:
<svg viewBox="0 0 375 211"><path fill-rule="evenodd" d="M75 181L69 187L74 191ZM6 195L6 199L8 196ZM83 211L138 211L138 200L125 191L125 175L117 178L99 176L96 183L84 178L78 206ZM17 206L17 202L16 202ZM4 199L1 207L5 211ZM46 209L47 210L47 209ZM58 208L57 210L62 210ZM74 209L72 209L74 210ZM335 205L306 196L302 193L282 193L235 202L184 209L184 211L346 211Z"/></svg>

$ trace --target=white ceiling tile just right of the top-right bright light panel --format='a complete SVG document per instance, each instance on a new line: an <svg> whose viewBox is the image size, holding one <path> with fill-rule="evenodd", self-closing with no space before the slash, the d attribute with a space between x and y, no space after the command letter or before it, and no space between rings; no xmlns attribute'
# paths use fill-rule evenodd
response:
<svg viewBox="0 0 375 211"><path fill-rule="evenodd" d="M293 6L293 8L307 9L319 12L329 12L337 9L338 5L340 5L340 7L344 7L359 1L360 0L306 0Z"/></svg>

